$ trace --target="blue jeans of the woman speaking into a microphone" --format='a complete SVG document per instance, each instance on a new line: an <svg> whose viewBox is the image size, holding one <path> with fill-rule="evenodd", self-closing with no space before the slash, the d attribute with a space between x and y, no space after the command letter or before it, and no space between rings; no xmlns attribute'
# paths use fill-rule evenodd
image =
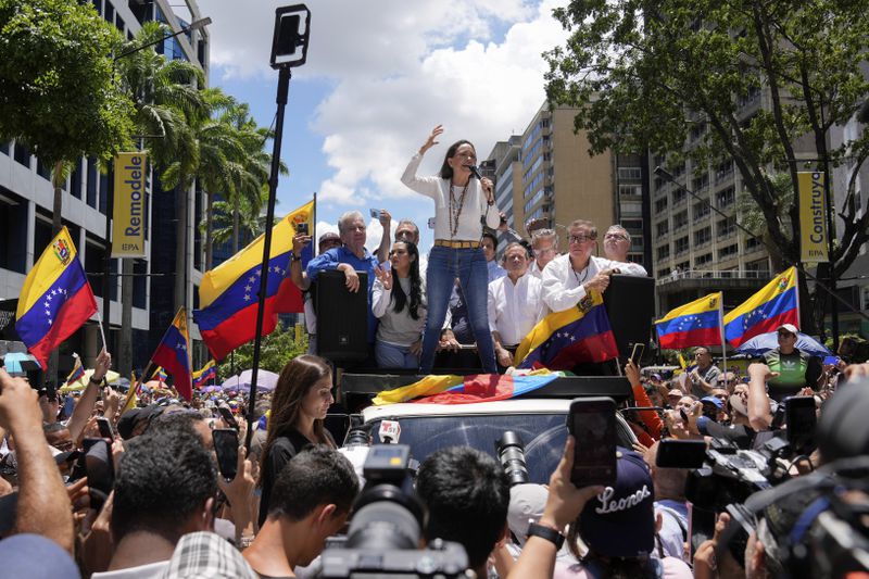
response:
<svg viewBox="0 0 869 579"><path fill-rule="evenodd" d="M492 335L489 332L489 269L482 249L452 249L434 246L428 256L426 272L426 300L428 315L426 331L423 335L423 355L419 373L430 374L434 364L434 349L440 342L441 328L446 318L450 294L455 279L462 285L468 306L470 329L477 340L482 368L487 373L498 372Z"/></svg>

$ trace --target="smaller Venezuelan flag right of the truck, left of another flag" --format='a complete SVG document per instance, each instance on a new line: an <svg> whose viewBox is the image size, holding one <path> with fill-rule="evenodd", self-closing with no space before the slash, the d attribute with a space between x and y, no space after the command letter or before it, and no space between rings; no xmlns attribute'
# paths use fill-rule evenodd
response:
<svg viewBox="0 0 869 579"><path fill-rule="evenodd" d="M655 322L660 347L665 350L678 350L722 343L722 318L720 291L670 310Z"/></svg>

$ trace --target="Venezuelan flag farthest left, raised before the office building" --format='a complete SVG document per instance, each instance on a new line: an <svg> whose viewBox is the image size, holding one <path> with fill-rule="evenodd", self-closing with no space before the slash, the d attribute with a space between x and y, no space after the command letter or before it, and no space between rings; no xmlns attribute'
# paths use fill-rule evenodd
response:
<svg viewBox="0 0 869 579"><path fill-rule="evenodd" d="M15 329L42 368L52 350L97 312L97 300L64 227L27 274Z"/></svg>

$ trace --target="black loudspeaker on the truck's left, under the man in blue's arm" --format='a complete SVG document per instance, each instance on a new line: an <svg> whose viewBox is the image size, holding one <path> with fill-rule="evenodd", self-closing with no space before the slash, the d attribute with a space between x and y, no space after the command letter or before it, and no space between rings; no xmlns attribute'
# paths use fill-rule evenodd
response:
<svg viewBox="0 0 869 579"><path fill-rule="evenodd" d="M332 362L361 362L368 357L368 274L356 274L356 292L347 289L343 272L317 274L317 355Z"/></svg>

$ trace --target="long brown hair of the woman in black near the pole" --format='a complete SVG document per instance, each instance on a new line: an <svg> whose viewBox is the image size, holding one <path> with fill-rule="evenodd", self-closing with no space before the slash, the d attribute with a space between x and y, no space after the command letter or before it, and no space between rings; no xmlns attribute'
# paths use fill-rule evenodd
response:
<svg viewBox="0 0 869 579"><path fill-rule="evenodd" d="M265 439L265 446L260 455L260 481L263 483L262 473L265 473L268 452L275 439L287 436L291 429L295 428L299 421L299 414L302 411L302 399L311 388L326 376L330 376L332 368L329 363L310 354L302 354L289 361L284 369L280 370L278 385L275 387L275 394L272 397L272 414L268 417L268 430ZM332 446L332 441L326 436L323 428L323 420L314 420L314 437L316 442Z"/></svg>

